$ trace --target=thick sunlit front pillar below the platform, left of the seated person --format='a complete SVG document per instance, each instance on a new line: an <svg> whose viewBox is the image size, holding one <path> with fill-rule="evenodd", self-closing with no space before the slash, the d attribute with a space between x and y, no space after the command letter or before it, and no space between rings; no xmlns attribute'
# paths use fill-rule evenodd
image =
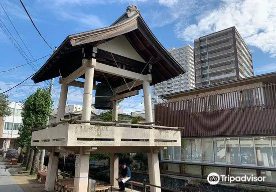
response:
<svg viewBox="0 0 276 192"><path fill-rule="evenodd" d="M79 158L76 157L74 192L87 192L89 154L84 154L83 147L80 147ZM77 162L78 161L78 162Z"/></svg>

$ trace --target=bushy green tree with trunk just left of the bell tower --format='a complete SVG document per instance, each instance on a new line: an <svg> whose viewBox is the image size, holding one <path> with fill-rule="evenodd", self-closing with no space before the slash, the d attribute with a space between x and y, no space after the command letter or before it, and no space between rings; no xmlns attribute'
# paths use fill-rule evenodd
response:
<svg viewBox="0 0 276 192"><path fill-rule="evenodd" d="M43 125L46 125L47 117L52 112L53 101L50 97L49 88L38 88L35 93L30 95L25 101L22 108L22 126L19 128L19 144L20 146L30 146L32 131ZM32 159L30 174L35 174L39 168L40 149L34 148L34 155L29 157ZM27 164L30 164L27 163ZM30 168L30 166L29 166Z"/></svg>

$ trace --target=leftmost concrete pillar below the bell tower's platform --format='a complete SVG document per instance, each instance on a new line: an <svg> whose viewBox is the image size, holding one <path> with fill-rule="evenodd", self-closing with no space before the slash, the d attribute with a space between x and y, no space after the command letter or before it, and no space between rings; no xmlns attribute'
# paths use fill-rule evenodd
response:
<svg viewBox="0 0 276 192"><path fill-rule="evenodd" d="M52 151L49 157L48 168L47 168L47 176L45 181L44 189L46 191L55 190L56 186L56 177L58 171L58 156L54 156L55 147L52 147Z"/></svg>

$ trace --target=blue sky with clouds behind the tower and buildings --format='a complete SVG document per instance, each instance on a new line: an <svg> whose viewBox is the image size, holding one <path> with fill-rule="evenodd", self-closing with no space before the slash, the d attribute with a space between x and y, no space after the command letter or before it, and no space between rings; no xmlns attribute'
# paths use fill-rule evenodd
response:
<svg viewBox="0 0 276 192"><path fill-rule="evenodd" d="M0 0L19 34L35 59L51 53L40 38L17 0ZM193 45L193 40L235 26L252 52L255 75L276 71L276 1L275 0L38 0L24 1L37 27L52 47L58 47L67 35L97 29L112 24L128 5L136 4L150 29L167 49ZM13 26L0 8L0 19L24 49ZM24 49L26 54L30 54ZM37 62L40 68L47 58ZM9 38L0 29L0 71L27 63ZM33 74L29 66L0 73L0 88L5 91ZM32 80L7 92L11 101L20 101L37 87ZM54 80L54 90L59 96L60 86ZM142 92L140 93L142 95ZM57 107L57 98L53 108ZM82 89L69 88L69 104L82 103ZM123 112L143 110L141 97L123 101Z"/></svg>

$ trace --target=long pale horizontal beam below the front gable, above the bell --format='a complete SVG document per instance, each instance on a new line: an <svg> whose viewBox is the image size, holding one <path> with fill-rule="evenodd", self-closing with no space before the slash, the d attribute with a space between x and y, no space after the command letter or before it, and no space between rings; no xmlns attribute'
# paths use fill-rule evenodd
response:
<svg viewBox="0 0 276 192"><path fill-rule="evenodd" d="M128 71L125 69L120 69L120 68L113 67L110 65L105 65L102 63L98 63L98 62L96 62L95 71L100 71L103 73L116 75L116 76L123 76L124 78L127 78L127 79L133 79L133 80L137 79L137 81L152 81L151 74L142 75L139 73L135 73L135 72Z"/></svg>

